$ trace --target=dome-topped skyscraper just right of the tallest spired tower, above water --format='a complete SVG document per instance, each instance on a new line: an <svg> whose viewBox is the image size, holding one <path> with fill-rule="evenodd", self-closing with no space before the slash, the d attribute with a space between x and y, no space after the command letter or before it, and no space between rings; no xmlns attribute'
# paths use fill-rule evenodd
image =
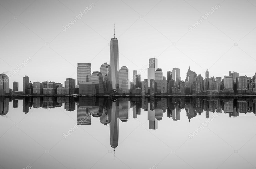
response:
<svg viewBox="0 0 256 169"><path fill-rule="evenodd" d="M130 93L131 83L129 80L130 73L126 66L121 67L119 71L119 92Z"/></svg>

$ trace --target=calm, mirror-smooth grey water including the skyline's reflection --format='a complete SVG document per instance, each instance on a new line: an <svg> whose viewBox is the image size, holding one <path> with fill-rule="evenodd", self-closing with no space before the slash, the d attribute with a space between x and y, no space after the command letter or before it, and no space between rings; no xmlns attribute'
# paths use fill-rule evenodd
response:
<svg viewBox="0 0 256 169"><path fill-rule="evenodd" d="M255 168L255 102L0 97L0 168Z"/></svg>

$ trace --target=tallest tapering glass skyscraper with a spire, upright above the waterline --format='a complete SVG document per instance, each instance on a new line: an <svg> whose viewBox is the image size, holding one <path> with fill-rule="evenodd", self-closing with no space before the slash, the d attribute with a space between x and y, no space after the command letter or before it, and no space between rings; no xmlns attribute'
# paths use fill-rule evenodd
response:
<svg viewBox="0 0 256 169"><path fill-rule="evenodd" d="M113 89L118 88L118 72L119 72L119 50L118 39L115 38L115 25L114 25L114 38L110 41L110 67L111 67L111 79L113 82Z"/></svg>

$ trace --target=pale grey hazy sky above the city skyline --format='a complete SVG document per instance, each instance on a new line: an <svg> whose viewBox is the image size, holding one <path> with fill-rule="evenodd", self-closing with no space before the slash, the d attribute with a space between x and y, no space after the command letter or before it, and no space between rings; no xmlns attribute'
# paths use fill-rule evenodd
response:
<svg viewBox="0 0 256 169"><path fill-rule="evenodd" d="M81 19L69 24L85 9ZM202 20L211 9L214 12ZM10 88L18 81L19 90L24 75L30 81L63 83L77 79L77 63L91 63L92 71L99 71L101 64L109 63L115 23L120 67L127 66L130 76L138 70L142 80L147 78L144 66L152 57L158 58L164 76L178 67L183 80L188 66L203 77L206 69L210 77L229 71L252 76L255 15L253 0L0 0L0 71L8 75L30 57L10 78ZM197 28L189 31L196 22Z"/></svg>

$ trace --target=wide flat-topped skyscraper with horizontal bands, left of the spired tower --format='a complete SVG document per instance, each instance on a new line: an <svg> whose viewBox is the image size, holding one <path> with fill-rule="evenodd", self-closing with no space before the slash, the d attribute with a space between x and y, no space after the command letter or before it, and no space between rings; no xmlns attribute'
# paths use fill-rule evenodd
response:
<svg viewBox="0 0 256 169"><path fill-rule="evenodd" d="M77 85L80 83L89 82L91 79L91 64L78 63L77 64Z"/></svg>

